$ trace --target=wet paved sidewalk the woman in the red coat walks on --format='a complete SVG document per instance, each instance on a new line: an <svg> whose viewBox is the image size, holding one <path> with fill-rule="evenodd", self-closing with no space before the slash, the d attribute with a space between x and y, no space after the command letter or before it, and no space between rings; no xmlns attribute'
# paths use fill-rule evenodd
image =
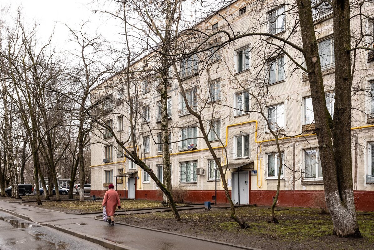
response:
<svg viewBox="0 0 374 250"><path fill-rule="evenodd" d="M6 201L0 201L0 210L21 217L22 219L49 226L76 237L100 244L109 249L253 250L253 248L249 247L234 246L228 243L191 238L183 235L134 226L117 224L112 227L108 226L108 223L106 222L95 220L92 215L65 214L58 211L29 207Z"/></svg>

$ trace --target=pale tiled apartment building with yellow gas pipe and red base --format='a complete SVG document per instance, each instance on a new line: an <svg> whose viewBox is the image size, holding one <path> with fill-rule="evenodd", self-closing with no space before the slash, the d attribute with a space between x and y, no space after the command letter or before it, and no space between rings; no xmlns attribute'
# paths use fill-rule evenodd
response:
<svg viewBox="0 0 374 250"><path fill-rule="evenodd" d="M373 4L362 11L373 18ZM233 1L195 28L210 32L220 29L246 33L276 34L301 43L294 31L295 13L287 4L264 7L255 12L250 1ZM326 90L326 104L334 112L334 40L332 12L322 5L313 10ZM228 25L229 24L229 25ZM373 44L373 19L352 18L352 30L364 29L363 41ZM292 30L292 31L291 31ZM292 34L294 32L294 34ZM210 45L220 38L213 37ZM300 52L260 36L243 36L178 62L179 71L170 72L168 118L172 142L170 158L172 185L189 190L191 202L226 203L222 185L225 178L234 203L270 205L275 196L279 155L270 129L282 129L291 138L282 138L283 169L278 205L316 207L323 192L323 175L316 136L307 74ZM205 54L204 54L205 53ZM208 60L206 60L208 58ZM291 60L292 58L292 60ZM125 74L116 74L99 85L92 98L102 100L102 121L110 125L120 142L135 147L139 157L162 181L160 95L157 77L149 76L158 67L157 55L149 54L131 68L131 85ZM352 178L358 210L374 211L374 53L359 50L355 55L352 103ZM200 128L191 115L178 85L183 81L188 104L206 123ZM338 86L337 86L338 87ZM264 90L265 89L265 90ZM129 98L130 94L130 98ZM135 105L132 126L129 100ZM260 112L261 111L261 112ZM266 119L265 119L266 118ZM136 122L134 122L136 121ZM135 142L131 136L135 129ZM224 177L202 138L205 129L211 146L226 169ZM121 197L161 200L162 193L150 176L124 157L113 134L98 127L91 136L91 194L102 196L110 183ZM372 149L373 148L373 149Z"/></svg>

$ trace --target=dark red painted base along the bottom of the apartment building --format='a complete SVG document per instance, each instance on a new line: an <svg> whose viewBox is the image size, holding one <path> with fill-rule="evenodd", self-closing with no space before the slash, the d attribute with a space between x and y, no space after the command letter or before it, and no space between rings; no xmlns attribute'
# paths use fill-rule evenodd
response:
<svg viewBox="0 0 374 250"><path fill-rule="evenodd" d="M120 198L125 198L125 190L117 190ZM275 190L251 190L249 191L249 204L270 206L275 196ZM105 190L91 190L91 195L104 197ZM202 203L204 201L214 201L215 190L190 190L186 202ZM231 191L230 191L231 195ZM311 207L318 208L318 198L324 197L324 191L295 190L279 192L278 205L280 207ZM374 191L354 191L356 210L374 211ZM127 190L126 190L127 198ZM160 190L136 190L136 199L150 199L154 201L162 200ZM217 190L217 204L227 204L225 192Z"/></svg>

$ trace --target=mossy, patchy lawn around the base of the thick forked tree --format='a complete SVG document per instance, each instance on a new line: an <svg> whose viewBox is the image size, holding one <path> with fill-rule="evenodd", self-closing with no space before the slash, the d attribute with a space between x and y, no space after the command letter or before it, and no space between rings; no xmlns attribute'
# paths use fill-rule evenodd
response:
<svg viewBox="0 0 374 250"><path fill-rule="evenodd" d="M363 238L350 239L332 235L331 217L315 210L277 211L279 224L267 223L268 208L242 207L236 211L251 228L240 229L229 218L229 210L217 208L180 211L181 222L176 222L171 212L120 215L116 221L260 249L374 249L374 215L358 214Z"/></svg>

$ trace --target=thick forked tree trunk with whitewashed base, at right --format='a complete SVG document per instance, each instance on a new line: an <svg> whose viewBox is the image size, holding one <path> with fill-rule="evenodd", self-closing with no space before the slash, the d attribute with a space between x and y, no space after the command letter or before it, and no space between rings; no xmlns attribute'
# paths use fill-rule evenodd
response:
<svg viewBox="0 0 374 250"><path fill-rule="evenodd" d="M350 148L352 75L349 53L349 1L332 1L337 86L333 121L325 104L324 82L310 1L297 0L297 5L324 176L325 198L331 213L334 234L339 237L361 237L353 199ZM332 140L338 143L333 146Z"/></svg>

